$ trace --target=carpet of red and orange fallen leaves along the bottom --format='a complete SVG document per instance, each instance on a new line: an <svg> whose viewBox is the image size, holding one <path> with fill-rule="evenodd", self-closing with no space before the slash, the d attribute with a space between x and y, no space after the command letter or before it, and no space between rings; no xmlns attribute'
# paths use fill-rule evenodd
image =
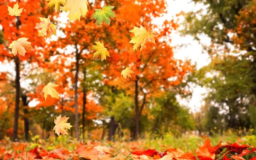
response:
<svg viewBox="0 0 256 160"><path fill-rule="evenodd" d="M114 143L115 145L118 143ZM118 149L104 146L103 143L79 143L74 150L56 146L52 151L44 150L41 145L26 151L31 143L11 143L0 141L0 160L256 160L256 148L250 145L212 146L209 138L198 150L183 152L179 148L164 146L164 152L155 149L138 149L134 143L131 148ZM12 145L12 147L6 147Z"/></svg>

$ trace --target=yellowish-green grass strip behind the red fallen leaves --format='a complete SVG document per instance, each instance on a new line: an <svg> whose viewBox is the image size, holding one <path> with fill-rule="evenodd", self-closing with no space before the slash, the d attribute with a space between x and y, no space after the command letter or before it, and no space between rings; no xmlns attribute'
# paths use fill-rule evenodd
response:
<svg viewBox="0 0 256 160"><path fill-rule="evenodd" d="M244 135L238 137L235 132L228 131L223 135L213 134L212 137L209 137L212 145L217 145L219 141L223 143L239 143L256 146L256 136L253 134ZM183 151L196 150L198 145L203 145L206 137L198 137L194 135L180 136L177 137L172 133L166 133L163 137L153 138L152 135L148 134L145 139L140 139L137 141L128 141L128 140L118 140L115 142L110 141L91 141L84 140L83 143L87 143L88 146L93 145L103 145L103 146L113 146L117 150L132 150L131 148L139 149L155 149L156 151L165 151L166 146L169 148L180 148ZM6 138L6 141L11 144L11 140ZM30 145L26 150L35 148L35 146L42 147L46 150L52 151L56 148L66 148L67 150L73 151L77 145L80 143L75 139L70 138L69 135L52 137L48 140L41 140L39 136L32 138ZM11 146L10 146L11 147Z"/></svg>

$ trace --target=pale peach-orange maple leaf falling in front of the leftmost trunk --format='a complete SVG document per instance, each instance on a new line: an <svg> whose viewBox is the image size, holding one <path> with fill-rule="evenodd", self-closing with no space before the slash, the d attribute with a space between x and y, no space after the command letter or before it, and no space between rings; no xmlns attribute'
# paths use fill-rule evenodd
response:
<svg viewBox="0 0 256 160"><path fill-rule="evenodd" d="M12 43L9 45L8 48L12 48L12 54L15 56L17 53L19 55L25 56L26 50L25 49L31 49L31 43L28 42L29 38L19 38L16 41L12 41Z"/></svg>

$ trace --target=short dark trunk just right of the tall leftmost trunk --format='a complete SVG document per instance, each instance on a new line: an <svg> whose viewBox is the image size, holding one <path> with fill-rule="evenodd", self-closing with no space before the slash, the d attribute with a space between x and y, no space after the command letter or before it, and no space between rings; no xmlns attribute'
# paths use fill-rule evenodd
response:
<svg viewBox="0 0 256 160"><path fill-rule="evenodd" d="M27 96L26 96L26 93L23 94L21 96L21 99L22 99L22 105L23 105L23 113L24 113L24 133L25 133L25 140L26 141L29 141L29 119L27 118L28 117L28 105L29 105L29 102L27 101Z"/></svg>

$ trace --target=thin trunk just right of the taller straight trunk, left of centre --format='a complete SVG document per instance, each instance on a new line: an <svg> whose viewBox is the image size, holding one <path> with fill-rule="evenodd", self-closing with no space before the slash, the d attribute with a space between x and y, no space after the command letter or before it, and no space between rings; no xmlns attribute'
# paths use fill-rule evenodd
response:
<svg viewBox="0 0 256 160"><path fill-rule="evenodd" d="M87 101L87 86L86 86L86 67L83 69L84 73L84 86L83 86L83 115L82 115L82 132L84 139L84 128L85 128L85 111L86 111L86 101Z"/></svg>

